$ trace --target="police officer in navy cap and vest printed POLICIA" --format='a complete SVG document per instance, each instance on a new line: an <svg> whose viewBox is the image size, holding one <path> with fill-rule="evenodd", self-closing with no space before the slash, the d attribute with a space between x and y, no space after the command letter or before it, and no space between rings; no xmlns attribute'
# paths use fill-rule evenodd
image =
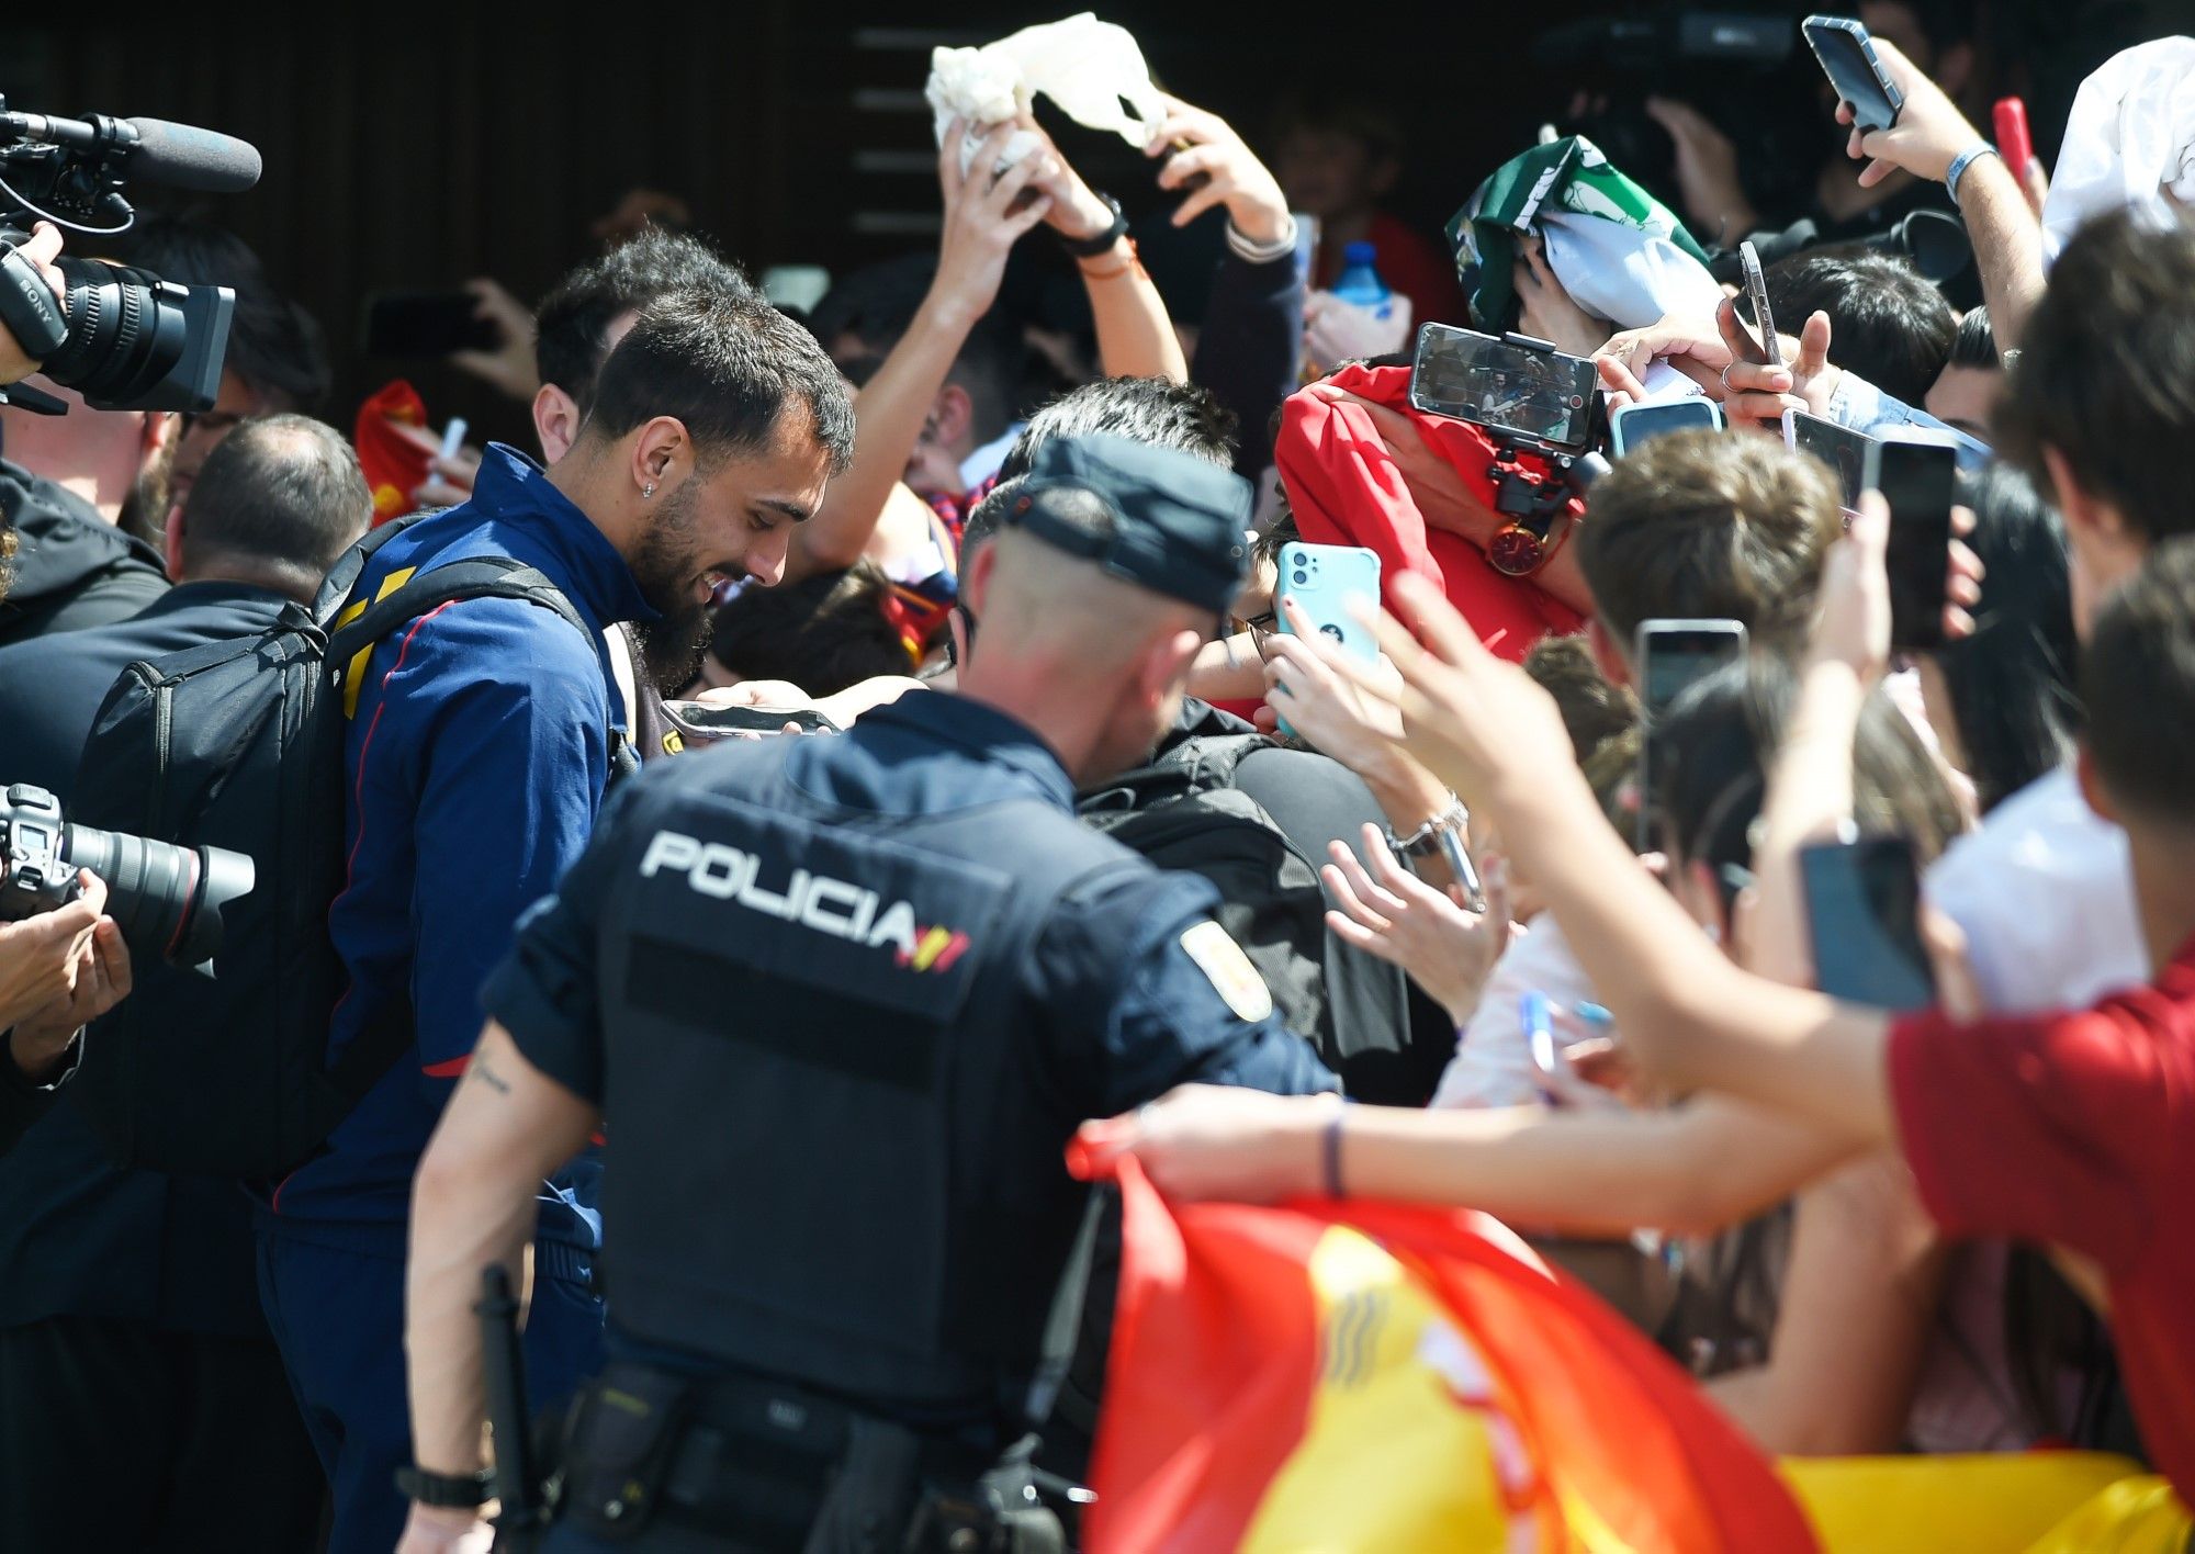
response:
<svg viewBox="0 0 2195 1554"><path fill-rule="evenodd" d="M612 1359L551 1550L1058 1545L1018 1462L1078 1119L1332 1089L1212 887L1073 819L1172 722L1249 505L1201 459L1054 441L964 579L957 694L615 801L419 1168L404 1550L485 1547L470 1304L597 1126Z"/></svg>

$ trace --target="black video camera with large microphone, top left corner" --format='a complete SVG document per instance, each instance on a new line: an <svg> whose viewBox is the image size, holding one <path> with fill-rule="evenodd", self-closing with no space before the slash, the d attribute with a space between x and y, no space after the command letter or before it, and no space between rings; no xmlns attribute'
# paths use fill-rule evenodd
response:
<svg viewBox="0 0 2195 1554"><path fill-rule="evenodd" d="M123 200L123 178L235 193L259 182L259 151L160 119L9 112L0 97L0 325L44 362L46 378L81 393L94 410L211 410L235 292L66 255L57 268L68 301L57 305L15 255L35 219L88 237L130 230L136 215ZM66 410L22 384L0 388L0 404Z"/></svg>

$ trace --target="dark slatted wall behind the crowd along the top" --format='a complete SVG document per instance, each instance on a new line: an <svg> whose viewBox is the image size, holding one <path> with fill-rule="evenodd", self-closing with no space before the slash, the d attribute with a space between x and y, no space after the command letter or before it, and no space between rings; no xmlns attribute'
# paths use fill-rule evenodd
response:
<svg viewBox="0 0 2195 1554"><path fill-rule="evenodd" d="M259 189L204 209L327 327L338 358L329 410L340 421L399 367L358 358L369 292L494 274L531 301L590 250L590 219L637 184L685 195L698 224L755 270L781 261L845 270L931 248L922 226L937 211L935 154L920 105L928 46L986 42L1069 9L1025 0L233 4L189 15L9 7L0 92L26 110L156 114L257 143ZM1253 145L1286 90L1374 83L1411 138L1392 204L1433 230L1583 81L1530 66L1528 40L1613 9L1119 0L1100 13L1137 33L1172 90L1236 121ZM1995 24L2039 29L2072 66L2127 33L2169 31L2147 24L2153 11L2125 0L2000 0ZM1699 90L1714 92L1714 79ZM2070 99L2070 83L2044 90L2046 101L2057 97ZM2052 121L2046 101L2041 140L2063 119L2057 108ZM1130 213L1152 204L1148 169L1117 140L1065 145ZM151 189L140 195L158 200ZM439 367L410 375L437 421L461 413L481 430L522 437L514 408L470 380Z"/></svg>

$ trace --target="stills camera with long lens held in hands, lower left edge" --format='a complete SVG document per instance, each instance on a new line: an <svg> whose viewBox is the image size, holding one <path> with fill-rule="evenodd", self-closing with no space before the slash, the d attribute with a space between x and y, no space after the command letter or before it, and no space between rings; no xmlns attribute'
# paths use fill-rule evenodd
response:
<svg viewBox="0 0 2195 1554"><path fill-rule="evenodd" d="M219 953L222 909L250 896L257 878L244 854L70 825L44 788L9 788L0 799L0 922L77 900L77 869L105 880L108 915L132 955L171 966L204 966Z"/></svg>

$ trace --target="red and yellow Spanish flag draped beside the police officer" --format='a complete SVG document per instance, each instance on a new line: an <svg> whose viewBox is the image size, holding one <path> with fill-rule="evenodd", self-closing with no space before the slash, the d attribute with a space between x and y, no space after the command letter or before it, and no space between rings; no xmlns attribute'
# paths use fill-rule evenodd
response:
<svg viewBox="0 0 2195 1554"><path fill-rule="evenodd" d="M1497 1220L1119 1185L1093 1554L1815 1547L1692 1381Z"/></svg>

